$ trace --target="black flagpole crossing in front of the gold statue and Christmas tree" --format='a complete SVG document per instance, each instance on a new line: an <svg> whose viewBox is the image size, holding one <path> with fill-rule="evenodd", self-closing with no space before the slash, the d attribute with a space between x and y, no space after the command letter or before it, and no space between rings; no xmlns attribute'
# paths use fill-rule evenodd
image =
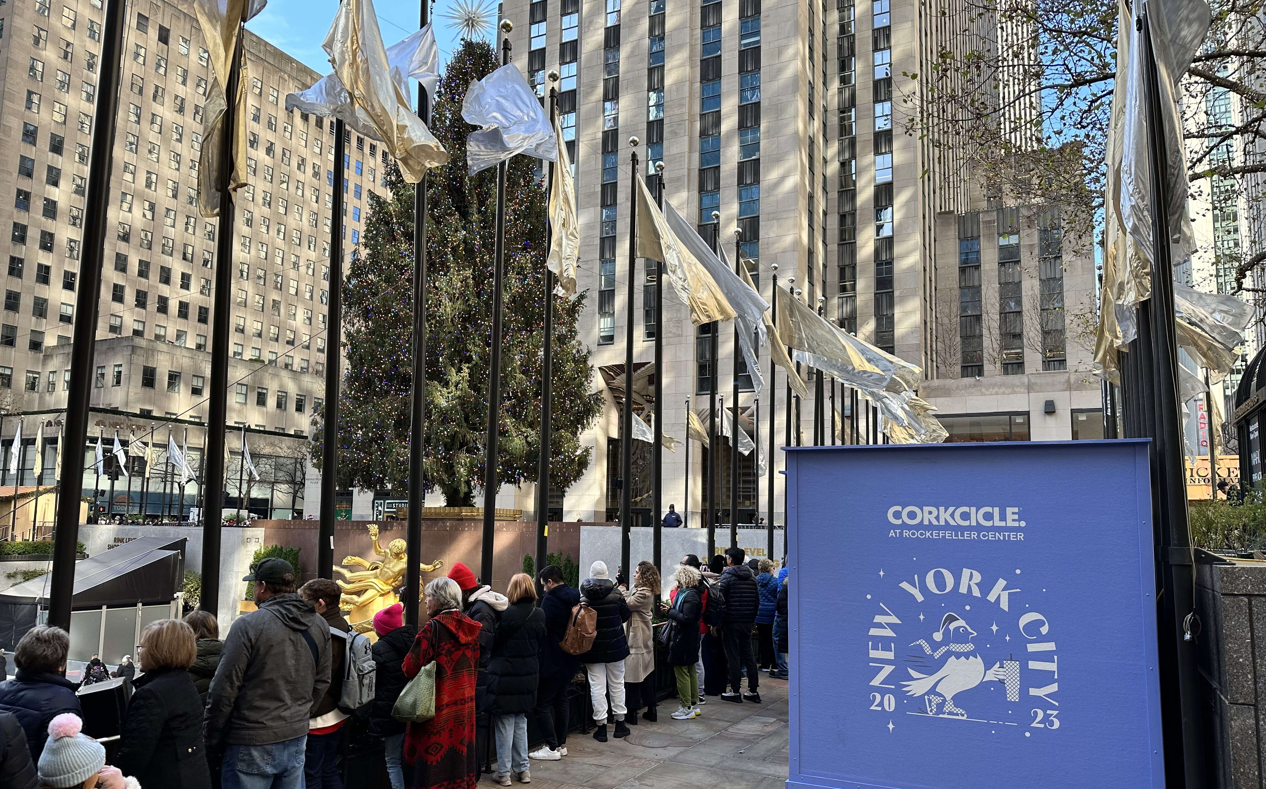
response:
<svg viewBox="0 0 1266 789"><path fill-rule="evenodd" d="M418 29L429 22L429 3L418 4ZM418 118L430 119L430 96L418 82ZM427 172L413 187L413 400L409 413L409 519L405 523L404 619L420 622L422 510L427 505Z"/></svg>

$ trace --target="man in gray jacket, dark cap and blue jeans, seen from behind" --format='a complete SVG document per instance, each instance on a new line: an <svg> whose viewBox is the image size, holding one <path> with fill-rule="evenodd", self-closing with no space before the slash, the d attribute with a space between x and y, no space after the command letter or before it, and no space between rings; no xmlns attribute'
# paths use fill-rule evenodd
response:
<svg viewBox="0 0 1266 789"><path fill-rule="evenodd" d="M260 608L224 640L203 736L223 755L223 789L301 789L308 721L330 683L329 626L295 594L287 561L265 559L242 580Z"/></svg>

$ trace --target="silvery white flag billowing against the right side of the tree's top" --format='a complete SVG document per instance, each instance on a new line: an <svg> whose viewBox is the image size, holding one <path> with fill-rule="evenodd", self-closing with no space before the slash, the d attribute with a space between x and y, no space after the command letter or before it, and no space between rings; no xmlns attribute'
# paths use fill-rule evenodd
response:
<svg viewBox="0 0 1266 789"><path fill-rule="evenodd" d="M536 91L514 63L472 81L462 103L466 123L482 127L466 137L470 174L495 167L515 153L558 161L558 141Z"/></svg>

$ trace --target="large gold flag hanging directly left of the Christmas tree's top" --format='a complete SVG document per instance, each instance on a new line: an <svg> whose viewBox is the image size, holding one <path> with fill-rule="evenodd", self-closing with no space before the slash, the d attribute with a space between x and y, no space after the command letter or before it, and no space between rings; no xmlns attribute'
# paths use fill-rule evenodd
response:
<svg viewBox="0 0 1266 789"><path fill-rule="evenodd" d="M368 115L406 182L417 184L428 167L448 162L448 152L413 111L406 90L391 77L372 0L341 4L322 46L352 103Z"/></svg>

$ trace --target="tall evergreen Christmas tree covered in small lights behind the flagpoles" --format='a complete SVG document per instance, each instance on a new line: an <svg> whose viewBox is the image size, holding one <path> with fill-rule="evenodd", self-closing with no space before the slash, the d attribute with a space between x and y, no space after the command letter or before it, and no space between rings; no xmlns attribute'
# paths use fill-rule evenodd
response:
<svg viewBox="0 0 1266 789"><path fill-rule="evenodd" d="M449 163L427 180L427 484L449 507L473 504L484 480L496 170L467 175L462 100L472 80L498 67L484 41L462 42L434 98L430 130ZM505 179L505 287L498 474L506 484L536 481L544 342L546 187L538 160L515 156ZM347 371L339 400L341 488L405 490L413 385L413 187L392 165L390 194L370 193L361 243L343 295ZM555 299L553 410L549 475L575 483L590 462L580 433L598 417L589 348L577 339L584 295ZM320 458L320 433L313 458Z"/></svg>

